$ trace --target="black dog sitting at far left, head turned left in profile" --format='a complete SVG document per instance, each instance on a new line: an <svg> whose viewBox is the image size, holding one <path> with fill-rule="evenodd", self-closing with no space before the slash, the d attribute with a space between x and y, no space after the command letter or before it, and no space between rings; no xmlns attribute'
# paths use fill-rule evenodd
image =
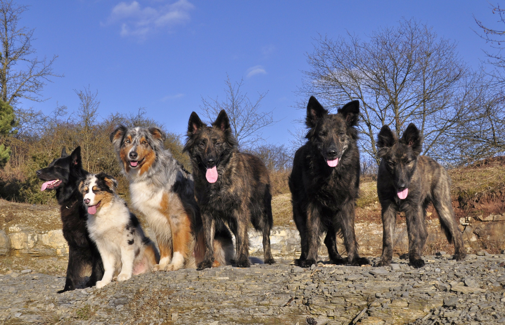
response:
<svg viewBox="0 0 505 325"><path fill-rule="evenodd" d="M63 223L63 237L69 246L67 280L62 293L76 288L92 287L104 275L102 258L95 243L89 238L86 228L87 212L82 204L79 183L89 174L82 169L81 147L68 155L65 148L60 158L38 170L37 176L45 181L41 190L56 189ZM85 282L86 269L91 267L91 276Z"/></svg>

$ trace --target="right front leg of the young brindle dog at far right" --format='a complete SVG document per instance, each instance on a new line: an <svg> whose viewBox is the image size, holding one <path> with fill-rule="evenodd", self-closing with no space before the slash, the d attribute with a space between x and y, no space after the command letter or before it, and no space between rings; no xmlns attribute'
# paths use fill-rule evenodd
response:
<svg viewBox="0 0 505 325"><path fill-rule="evenodd" d="M420 268L424 266L421 245L426 232L423 207L421 205L409 206L405 211L405 217L407 220L407 234L409 235L409 265ZM426 238L424 238L424 241L426 241Z"/></svg>

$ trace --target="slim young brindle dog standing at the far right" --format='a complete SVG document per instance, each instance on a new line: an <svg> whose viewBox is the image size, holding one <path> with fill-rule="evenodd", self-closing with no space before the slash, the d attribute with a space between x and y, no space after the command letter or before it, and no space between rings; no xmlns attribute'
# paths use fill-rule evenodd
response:
<svg viewBox="0 0 505 325"><path fill-rule="evenodd" d="M411 123L398 139L387 125L377 139L381 163L377 175L377 194L382 206L382 256L376 266L389 265L393 256L392 236L396 213L405 212L409 235L409 263L424 266L421 253L426 243L426 208L433 202L440 226L449 243L454 243L456 260L465 258L463 238L455 220L450 199L449 174L435 160L420 156L423 136Z"/></svg>

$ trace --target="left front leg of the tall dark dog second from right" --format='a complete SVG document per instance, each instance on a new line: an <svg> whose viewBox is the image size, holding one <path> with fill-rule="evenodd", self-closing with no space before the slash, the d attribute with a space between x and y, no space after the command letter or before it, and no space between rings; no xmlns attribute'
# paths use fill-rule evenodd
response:
<svg viewBox="0 0 505 325"><path fill-rule="evenodd" d="M306 223L306 238L307 238L307 258L300 262L301 267L308 267L316 264L318 259L318 251L321 245L319 236L321 234L321 210L315 204L310 203L307 208L307 223Z"/></svg>

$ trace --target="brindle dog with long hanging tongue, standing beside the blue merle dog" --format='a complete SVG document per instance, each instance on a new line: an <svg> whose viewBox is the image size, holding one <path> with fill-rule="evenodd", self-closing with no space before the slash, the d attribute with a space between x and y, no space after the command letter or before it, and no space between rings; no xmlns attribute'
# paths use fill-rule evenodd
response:
<svg viewBox="0 0 505 325"><path fill-rule="evenodd" d="M191 113L184 151L193 166L195 197L205 231L205 258L198 269L211 267L214 259L212 237L227 223L235 234L238 267L249 267L249 220L263 235L264 262L274 263L270 252L273 225L270 177L263 161L241 153L232 135L228 116L222 110L211 127Z"/></svg>

